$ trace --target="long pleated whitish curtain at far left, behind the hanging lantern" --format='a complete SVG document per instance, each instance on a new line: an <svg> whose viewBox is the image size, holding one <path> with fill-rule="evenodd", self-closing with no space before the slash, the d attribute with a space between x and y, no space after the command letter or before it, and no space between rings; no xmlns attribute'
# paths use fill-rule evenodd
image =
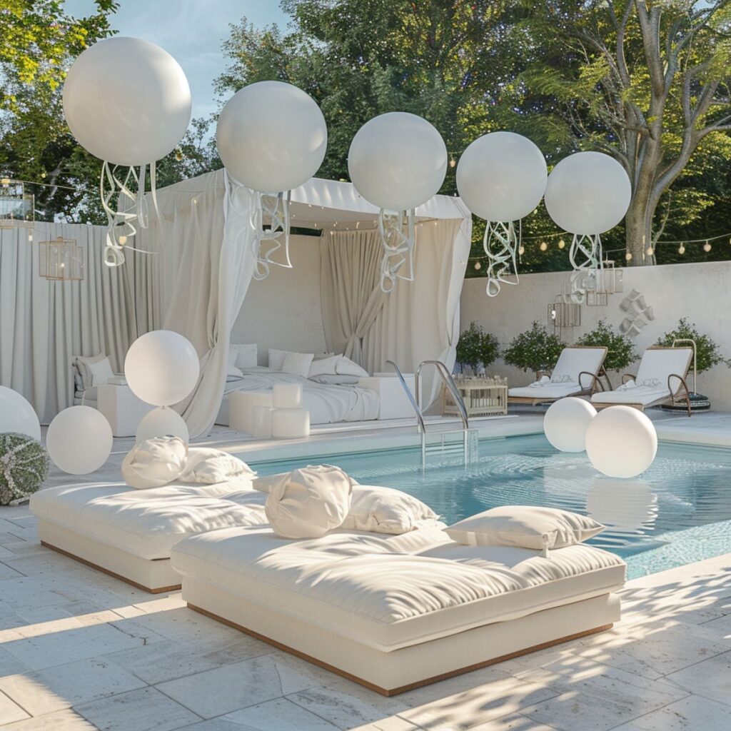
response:
<svg viewBox="0 0 731 731"><path fill-rule="evenodd" d="M104 266L105 235L100 226L45 222L0 230L0 385L23 394L42 423L73 404L73 356L103 352L121 371L137 337L132 280ZM85 247L83 281L39 276L39 243L58 236Z"/></svg>

